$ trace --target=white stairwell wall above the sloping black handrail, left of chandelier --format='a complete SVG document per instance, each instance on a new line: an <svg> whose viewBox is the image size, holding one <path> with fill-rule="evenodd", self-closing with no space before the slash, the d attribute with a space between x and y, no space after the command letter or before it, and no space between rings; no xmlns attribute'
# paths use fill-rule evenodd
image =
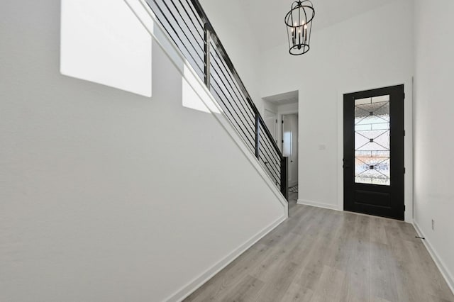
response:
<svg viewBox="0 0 454 302"><path fill-rule="evenodd" d="M248 16L245 14L243 4L240 0L201 0L200 3L255 106L260 113L263 113L264 105L260 97L260 74L258 73L262 64L260 49L253 30L248 24Z"/></svg>

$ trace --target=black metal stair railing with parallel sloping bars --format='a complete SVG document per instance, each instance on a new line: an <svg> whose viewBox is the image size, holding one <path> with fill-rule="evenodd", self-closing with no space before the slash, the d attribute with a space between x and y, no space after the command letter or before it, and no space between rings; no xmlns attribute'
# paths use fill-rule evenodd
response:
<svg viewBox="0 0 454 302"><path fill-rule="evenodd" d="M288 199L283 157L198 0L146 0L223 113Z"/></svg>

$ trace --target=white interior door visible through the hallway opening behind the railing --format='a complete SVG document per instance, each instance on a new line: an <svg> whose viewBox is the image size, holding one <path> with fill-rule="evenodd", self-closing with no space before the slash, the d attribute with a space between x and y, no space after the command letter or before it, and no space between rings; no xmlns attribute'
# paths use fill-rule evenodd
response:
<svg viewBox="0 0 454 302"><path fill-rule="evenodd" d="M298 114L282 116L282 155L289 157L289 186L298 184Z"/></svg>

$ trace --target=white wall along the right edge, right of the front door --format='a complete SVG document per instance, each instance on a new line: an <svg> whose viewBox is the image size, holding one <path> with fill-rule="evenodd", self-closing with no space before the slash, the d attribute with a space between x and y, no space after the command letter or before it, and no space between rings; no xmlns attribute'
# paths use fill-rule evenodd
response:
<svg viewBox="0 0 454 302"><path fill-rule="evenodd" d="M453 1L416 1L414 219L454 291L453 16Z"/></svg>

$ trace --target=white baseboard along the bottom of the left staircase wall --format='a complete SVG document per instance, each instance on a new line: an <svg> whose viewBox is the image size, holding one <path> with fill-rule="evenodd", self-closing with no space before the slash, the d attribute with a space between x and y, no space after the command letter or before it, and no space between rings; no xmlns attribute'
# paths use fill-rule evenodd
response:
<svg viewBox="0 0 454 302"><path fill-rule="evenodd" d="M264 228L259 233L250 238L250 240L243 243L243 245L240 245L240 247L236 248L236 250L233 250L233 252L231 252L227 257L221 259L221 261L219 261L213 267L207 269L203 274L196 277L193 281L189 282L189 284L183 286L177 292L173 293L169 298L165 299L165 301L182 301L184 298L187 298L187 296L196 291L196 289L199 289L199 287L204 285L206 281L211 279L224 267L233 262L233 260L235 260L241 254L243 254L245 250L248 250L250 247L252 247L256 242L258 242L258 240L262 239L262 237L265 237L267 233L270 233L286 219L287 216L282 216L281 218L277 219L274 223L268 225L266 228Z"/></svg>

